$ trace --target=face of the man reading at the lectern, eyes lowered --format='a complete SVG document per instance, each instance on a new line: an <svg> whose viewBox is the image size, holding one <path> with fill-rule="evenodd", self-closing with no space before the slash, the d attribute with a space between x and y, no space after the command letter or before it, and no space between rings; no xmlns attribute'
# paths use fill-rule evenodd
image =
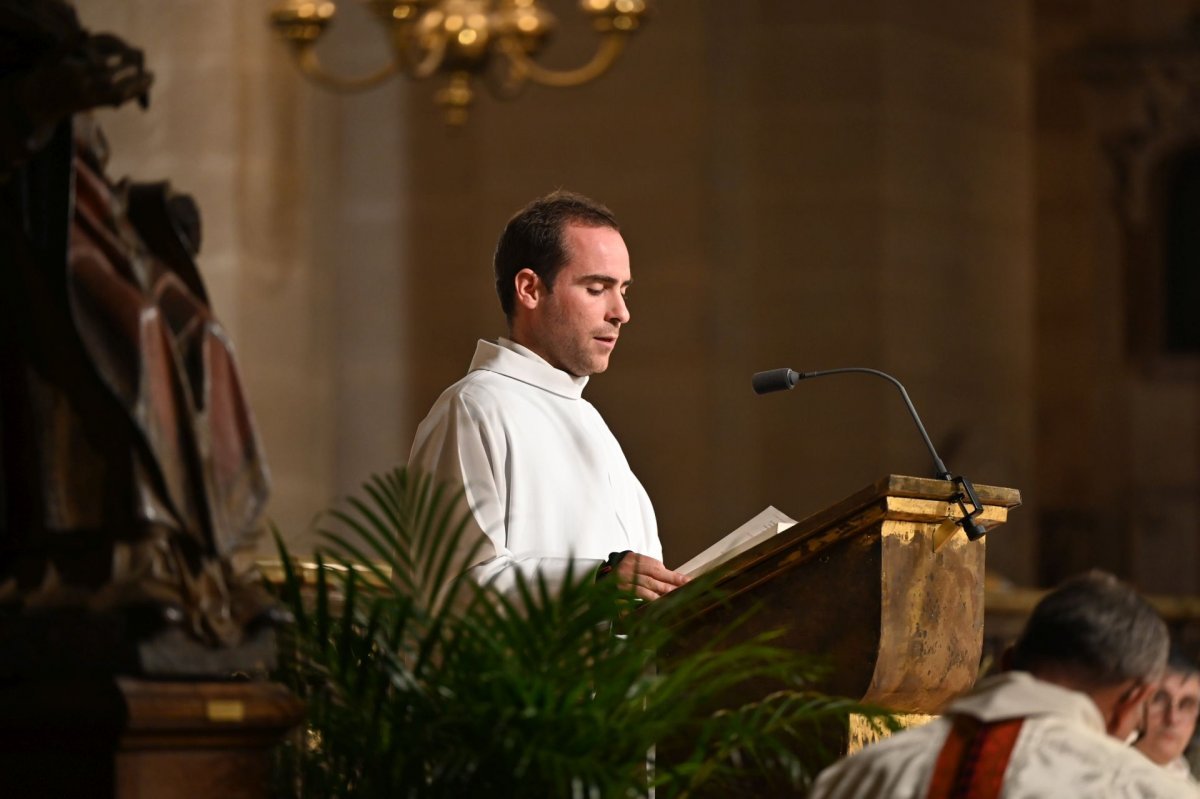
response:
<svg viewBox="0 0 1200 799"><path fill-rule="evenodd" d="M540 286L521 343L564 372L599 374L608 368L620 328L629 322L629 251L611 228L568 224L563 234L566 264L554 277L554 290Z"/></svg>

